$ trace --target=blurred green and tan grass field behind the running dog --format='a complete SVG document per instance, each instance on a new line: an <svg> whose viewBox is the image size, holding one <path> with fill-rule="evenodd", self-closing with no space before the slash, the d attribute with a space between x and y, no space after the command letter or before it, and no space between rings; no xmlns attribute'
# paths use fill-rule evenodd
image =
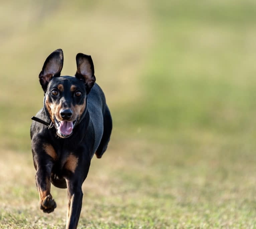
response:
<svg viewBox="0 0 256 229"><path fill-rule="evenodd" d="M256 228L256 2L0 3L0 228L65 228L40 211L30 117L47 55L92 55L114 128L78 228Z"/></svg>

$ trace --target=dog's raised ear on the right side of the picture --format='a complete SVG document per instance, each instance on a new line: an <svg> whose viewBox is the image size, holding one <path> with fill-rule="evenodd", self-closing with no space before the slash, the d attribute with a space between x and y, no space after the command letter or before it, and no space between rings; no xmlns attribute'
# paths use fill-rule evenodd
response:
<svg viewBox="0 0 256 229"><path fill-rule="evenodd" d="M77 72L76 77L84 80L86 86L86 93L89 94L91 88L95 83L94 66L91 56L83 53L78 53L76 56Z"/></svg>

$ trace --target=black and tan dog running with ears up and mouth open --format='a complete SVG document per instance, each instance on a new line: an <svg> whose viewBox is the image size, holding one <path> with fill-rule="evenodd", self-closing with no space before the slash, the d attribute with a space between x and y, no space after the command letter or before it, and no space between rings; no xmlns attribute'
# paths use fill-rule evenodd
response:
<svg viewBox="0 0 256 229"><path fill-rule="evenodd" d="M63 52L52 52L43 64L39 81L43 108L32 117L30 129L35 181L40 209L50 213L56 203L51 183L68 189L66 228L77 228L82 208L82 184L91 159L107 149L112 119L102 89L95 83L91 56L78 53L75 77L60 76Z"/></svg>

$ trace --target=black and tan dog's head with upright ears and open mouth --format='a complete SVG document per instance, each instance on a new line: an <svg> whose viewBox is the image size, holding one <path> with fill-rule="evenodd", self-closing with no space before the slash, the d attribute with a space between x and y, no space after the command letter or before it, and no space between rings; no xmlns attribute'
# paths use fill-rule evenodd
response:
<svg viewBox="0 0 256 229"><path fill-rule="evenodd" d="M78 53L75 77L60 76L63 52L57 49L45 60L39 81L45 93L45 108L61 138L69 137L86 108L86 96L95 83L91 56Z"/></svg>

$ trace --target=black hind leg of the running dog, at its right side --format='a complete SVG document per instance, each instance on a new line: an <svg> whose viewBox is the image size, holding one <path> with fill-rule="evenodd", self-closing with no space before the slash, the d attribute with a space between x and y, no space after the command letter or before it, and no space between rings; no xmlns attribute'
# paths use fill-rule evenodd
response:
<svg viewBox="0 0 256 229"><path fill-rule="evenodd" d="M103 130L102 139L98 149L95 152L97 158L101 158L103 153L106 151L109 140L110 140L111 131L112 131L112 118L107 105L105 108L105 112L103 114L103 126L104 126L104 130Z"/></svg>

